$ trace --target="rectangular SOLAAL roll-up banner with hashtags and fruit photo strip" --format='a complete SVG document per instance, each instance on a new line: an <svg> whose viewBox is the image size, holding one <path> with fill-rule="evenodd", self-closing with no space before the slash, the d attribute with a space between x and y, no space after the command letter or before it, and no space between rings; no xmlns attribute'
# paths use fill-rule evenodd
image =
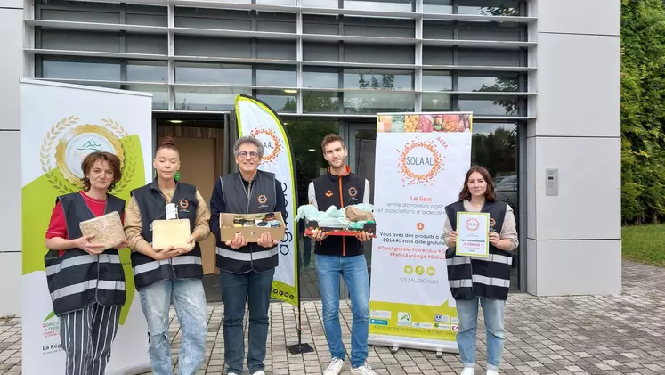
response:
<svg viewBox="0 0 665 375"><path fill-rule="evenodd" d="M377 121L369 342L458 352L443 214L471 164L471 113L386 113Z"/></svg>

